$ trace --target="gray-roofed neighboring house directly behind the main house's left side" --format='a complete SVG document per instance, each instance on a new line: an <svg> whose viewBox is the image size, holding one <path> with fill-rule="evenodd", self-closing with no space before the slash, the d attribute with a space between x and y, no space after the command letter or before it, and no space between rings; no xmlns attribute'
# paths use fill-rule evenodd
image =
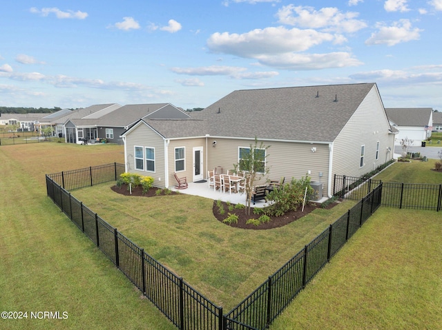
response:
<svg viewBox="0 0 442 330"><path fill-rule="evenodd" d="M106 140L108 143L122 144L120 136L140 118L182 119L190 117L189 114L170 103L124 105L103 116L97 116L97 114L68 120L65 123L66 132L75 130L78 138L86 138L88 143ZM81 142L77 141L77 143Z"/></svg>

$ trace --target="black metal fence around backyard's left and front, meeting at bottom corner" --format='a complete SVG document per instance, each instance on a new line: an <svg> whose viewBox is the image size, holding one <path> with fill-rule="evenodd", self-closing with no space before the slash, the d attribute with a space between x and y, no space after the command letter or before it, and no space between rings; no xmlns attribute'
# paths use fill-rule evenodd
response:
<svg viewBox="0 0 442 330"><path fill-rule="evenodd" d="M109 169L111 168L111 169ZM205 298L68 192L116 180L122 164L46 175L48 196L178 329L267 329L381 205L383 185L361 199L232 311Z"/></svg>

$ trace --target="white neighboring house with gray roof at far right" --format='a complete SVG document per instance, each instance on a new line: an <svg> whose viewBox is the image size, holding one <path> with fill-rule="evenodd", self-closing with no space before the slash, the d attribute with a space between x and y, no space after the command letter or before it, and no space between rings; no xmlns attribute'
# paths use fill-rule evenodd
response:
<svg viewBox="0 0 442 330"><path fill-rule="evenodd" d="M431 136L433 110L431 107L386 107L390 124L399 131L394 140L401 145L403 138L413 141L412 145L421 146L423 140Z"/></svg>

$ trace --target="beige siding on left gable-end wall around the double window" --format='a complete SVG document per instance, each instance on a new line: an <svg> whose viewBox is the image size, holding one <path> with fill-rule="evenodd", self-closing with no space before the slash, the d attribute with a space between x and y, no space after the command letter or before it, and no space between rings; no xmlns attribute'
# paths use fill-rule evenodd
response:
<svg viewBox="0 0 442 330"><path fill-rule="evenodd" d="M155 148L155 172L135 169L135 145ZM128 159L128 172L137 173L142 176L152 176L153 186L164 188L164 140L148 126L141 124L126 136L126 152ZM146 169L146 158L144 156L144 169Z"/></svg>

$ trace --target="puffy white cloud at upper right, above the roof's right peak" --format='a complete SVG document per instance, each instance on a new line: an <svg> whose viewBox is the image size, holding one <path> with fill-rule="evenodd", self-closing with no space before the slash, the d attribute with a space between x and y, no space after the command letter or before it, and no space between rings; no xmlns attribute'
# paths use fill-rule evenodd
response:
<svg viewBox="0 0 442 330"><path fill-rule="evenodd" d="M385 26L383 23L378 23L378 32L372 33L372 36L365 41L367 45L381 45L389 46L396 45L412 40L419 40L420 32L423 30L419 28L412 28L412 23L408 19L401 19L393 23L392 26Z"/></svg>

